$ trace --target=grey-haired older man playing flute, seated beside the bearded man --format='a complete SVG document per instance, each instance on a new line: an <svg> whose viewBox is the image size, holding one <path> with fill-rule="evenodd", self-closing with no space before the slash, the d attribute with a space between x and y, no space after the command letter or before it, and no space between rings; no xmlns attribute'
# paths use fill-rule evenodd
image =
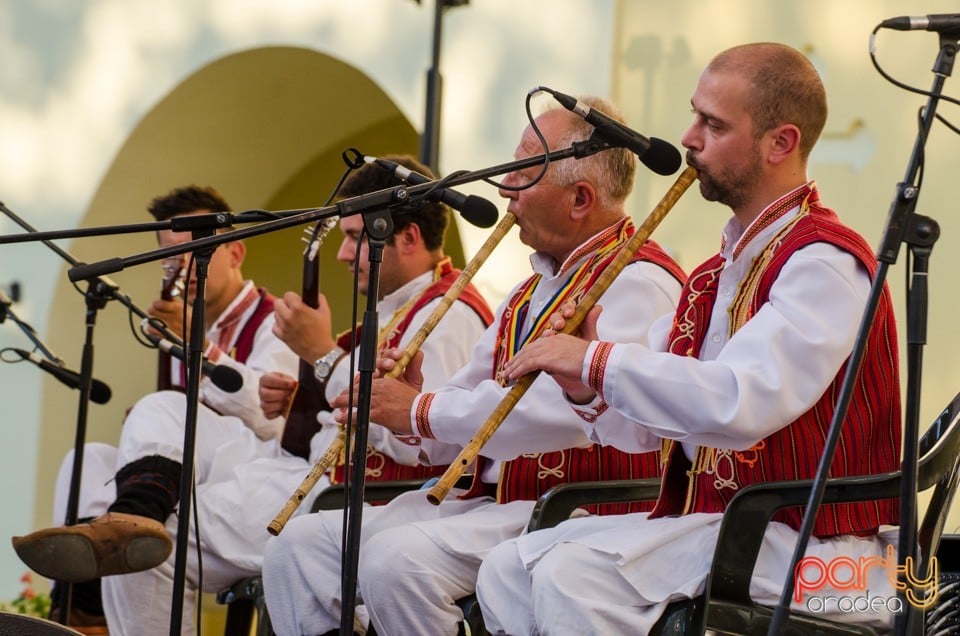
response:
<svg viewBox="0 0 960 636"><path fill-rule="evenodd" d="M603 100L584 99L613 113ZM551 150L587 139L593 130L562 109L535 121ZM516 154L525 158L546 150L528 127ZM558 303L591 287L633 233L624 200L635 169L636 158L616 149L552 162L539 181L539 167L510 173L500 193L516 216L520 240L535 250L536 273L510 292L467 365L447 384L419 386L428 352L414 358L403 380L374 380L371 420L401 434L465 445L509 391L501 381L504 363L539 335ZM601 331L609 338L642 338L654 318L673 311L683 278L679 267L648 243L602 297L607 312ZM395 359L399 351L385 354ZM384 364L383 370L392 368ZM333 401L335 407L347 404L345 394ZM522 532L540 493L559 482L658 472L653 453L592 445L548 377L534 382L479 460L469 492L458 490L439 506L413 492L364 511L358 629L369 615L381 634L456 634L463 616L454 599L473 592L488 550ZM340 624L341 524L338 513L304 515L267 544L264 590L277 633L323 634Z"/></svg>

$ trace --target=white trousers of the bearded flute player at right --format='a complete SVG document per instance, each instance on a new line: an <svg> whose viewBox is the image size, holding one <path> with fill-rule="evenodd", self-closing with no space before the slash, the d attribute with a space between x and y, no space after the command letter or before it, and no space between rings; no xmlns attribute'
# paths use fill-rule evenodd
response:
<svg viewBox="0 0 960 636"><path fill-rule="evenodd" d="M487 630L514 636L648 633L669 602L703 592L720 519L707 514L647 519L646 513L585 517L507 541L487 555L478 575L477 597ZM768 528L751 582L755 601L778 602L796 539L797 533L784 524ZM807 556L827 563L834 557L858 562L885 556L886 546L895 544L895 531L870 539L813 538ZM871 597L894 595L881 568L869 570L867 589ZM816 611L816 598L844 595L862 596L863 591L808 589L793 607ZM820 615L883 629L893 618L886 609Z"/></svg>

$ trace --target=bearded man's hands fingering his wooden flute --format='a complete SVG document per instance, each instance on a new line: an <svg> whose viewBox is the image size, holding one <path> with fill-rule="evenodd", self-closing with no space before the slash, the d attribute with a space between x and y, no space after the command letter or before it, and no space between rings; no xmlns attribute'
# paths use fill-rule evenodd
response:
<svg viewBox="0 0 960 636"><path fill-rule="evenodd" d="M575 310L573 303L564 303L560 311L550 317L550 327L543 335L507 361L503 374L508 381L541 370L560 385L572 402L585 404L596 396L596 392L585 386L580 378L587 348L591 341L599 340L597 320L602 308L597 305L587 313L576 335L559 333Z"/></svg>

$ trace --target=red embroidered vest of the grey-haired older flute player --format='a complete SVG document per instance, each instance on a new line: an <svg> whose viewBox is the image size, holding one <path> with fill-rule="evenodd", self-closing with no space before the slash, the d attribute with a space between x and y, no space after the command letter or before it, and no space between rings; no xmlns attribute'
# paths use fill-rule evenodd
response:
<svg viewBox="0 0 960 636"><path fill-rule="evenodd" d="M632 223L626 223L623 226L617 226L618 231L622 230L621 236L616 244L611 247L617 247L629 238L634 231ZM616 256L616 249L609 250L598 262L596 262L589 272L589 277L581 285L575 286L569 290L564 300L576 300L581 297L596 277L603 272ZM681 283L686 280L683 270L677 265L676 261L670 258L666 252L653 241L647 241L634 256L635 261L648 261L664 268L672 274ZM499 329L500 336L498 341L503 341L506 331L510 329L508 316L512 315L519 308L517 305L520 299L525 295L530 285L536 284L539 277L534 276L528 279L520 286L517 293L509 300L509 310L504 311ZM527 340L531 340L536 334L531 335ZM502 347L499 361L494 369L494 377L499 367L506 362L511 352ZM489 489L479 478L483 469L485 459L481 456L477 458L477 468L473 483L467 493L462 495L464 498L475 497L483 494L490 494ZM660 475L660 454L652 453L626 453L612 446L601 446L593 444L585 448L568 448L566 450L534 453L521 455L515 459L503 462L500 469L500 479L497 483L496 499L498 503L508 503L516 500L536 500L540 495L547 492L557 484L573 483L593 480L613 480L613 479L642 479L649 477L659 477ZM626 503L626 504L602 504L600 506L587 506L586 508L594 514L624 514L628 512L639 512L649 510L652 504L649 502Z"/></svg>

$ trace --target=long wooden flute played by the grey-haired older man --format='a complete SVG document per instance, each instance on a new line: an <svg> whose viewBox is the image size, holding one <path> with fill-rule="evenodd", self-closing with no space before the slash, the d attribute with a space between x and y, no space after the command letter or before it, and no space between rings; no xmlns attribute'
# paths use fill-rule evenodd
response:
<svg viewBox="0 0 960 636"><path fill-rule="evenodd" d="M440 320L446 315L447 310L453 306L453 303L460 297L460 294L463 293L464 288L470 284L470 281L473 280L474 275L477 273L477 270L486 262L487 258L490 257L490 254L497 247L500 241L503 240L503 237L507 235L507 232L510 231L510 228L513 227L513 224L516 223L517 217L513 215L512 212L507 212L500 223L497 224L497 227L493 228L493 231L490 233L490 236L487 237L487 240L484 241L483 245L480 246L480 249L477 250L477 253L470 259L470 262L466 267L463 268L463 271L460 272L460 276L457 277L457 280L453 282L453 285L450 286L450 289L447 290L447 293L440 298L440 303L434 308L434 310L427 316L427 319L424 321L423 325L417 330L417 333L413 335L413 338L407 343L407 346L404 348L403 353L400 355L400 359L397 360L396 365L389 373L386 374L388 378L398 378L403 374L404 369L407 368L407 365L410 364L410 360L413 359L413 356L416 355L417 351L423 345L423 342L427 339L427 336L436 328ZM310 472L307 476L300 482L300 485L297 487L293 494L290 495L290 498L284 504L280 512L277 513L277 516L274 517L273 521L267 526L267 532L276 536L280 534L280 531L283 530L283 527L287 524L287 521L290 520L290 517L293 516L293 513L296 512L297 508L306 499L307 495L317 485L317 482L320 481L320 478L327 472L327 469L330 466L334 465L337 459L340 457L340 454L343 452L344 446L346 445L346 435L344 433L343 427L340 427L340 431L337 433L337 436L331 442L330 446L327 448L326 452L317 460L317 462L310 469Z"/></svg>

